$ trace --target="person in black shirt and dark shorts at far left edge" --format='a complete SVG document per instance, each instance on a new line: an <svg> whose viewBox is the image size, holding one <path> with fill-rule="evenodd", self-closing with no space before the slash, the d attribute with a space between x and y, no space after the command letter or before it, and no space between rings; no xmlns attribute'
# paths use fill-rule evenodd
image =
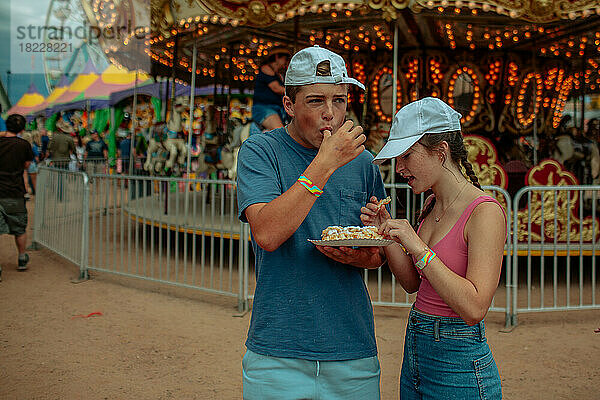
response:
<svg viewBox="0 0 600 400"><path fill-rule="evenodd" d="M19 251L17 270L27 269L27 208L23 171L33 160L31 145L17 137L25 129L25 118L11 114L6 119L6 133L0 137L0 234L15 237ZM0 269L0 274L2 270ZM0 275L1 279L1 275Z"/></svg>

